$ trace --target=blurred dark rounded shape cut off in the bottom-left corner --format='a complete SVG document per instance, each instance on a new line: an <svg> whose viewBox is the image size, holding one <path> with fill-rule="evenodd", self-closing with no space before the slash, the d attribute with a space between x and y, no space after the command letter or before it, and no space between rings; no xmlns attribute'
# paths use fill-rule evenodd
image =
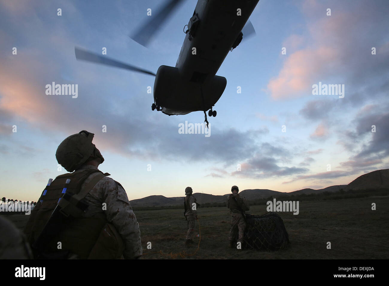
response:
<svg viewBox="0 0 389 286"><path fill-rule="evenodd" d="M10 221L0 217L0 259L32 259L25 236Z"/></svg>

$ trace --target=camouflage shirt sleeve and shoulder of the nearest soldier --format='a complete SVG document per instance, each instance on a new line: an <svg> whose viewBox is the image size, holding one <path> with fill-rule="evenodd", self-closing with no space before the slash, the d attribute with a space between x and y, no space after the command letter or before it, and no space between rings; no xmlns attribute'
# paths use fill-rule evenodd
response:
<svg viewBox="0 0 389 286"><path fill-rule="evenodd" d="M82 165L77 171L91 168L98 170L92 165ZM89 181L98 175L91 174L82 184L81 190ZM107 221L115 226L121 235L125 250L124 258L138 258L142 256L142 245L140 241L140 230L126 191L123 187L109 177L103 177L85 196L84 201L89 205L88 211L82 215L84 218L91 218L98 213L105 214ZM107 210L102 209L102 204L107 204Z"/></svg>

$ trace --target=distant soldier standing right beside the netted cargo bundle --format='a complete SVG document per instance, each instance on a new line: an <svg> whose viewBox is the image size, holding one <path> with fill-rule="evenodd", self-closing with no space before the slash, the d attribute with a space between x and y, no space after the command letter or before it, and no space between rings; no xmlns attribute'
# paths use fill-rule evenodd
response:
<svg viewBox="0 0 389 286"><path fill-rule="evenodd" d="M230 247L235 247L235 237L237 231L239 230L238 242L243 243L244 230L246 228L246 216L245 211L250 209L249 203L244 197L240 197L238 192L239 188L237 186L232 186L232 194L228 196L227 207L230 209L231 213L231 228L230 236Z"/></svg>

